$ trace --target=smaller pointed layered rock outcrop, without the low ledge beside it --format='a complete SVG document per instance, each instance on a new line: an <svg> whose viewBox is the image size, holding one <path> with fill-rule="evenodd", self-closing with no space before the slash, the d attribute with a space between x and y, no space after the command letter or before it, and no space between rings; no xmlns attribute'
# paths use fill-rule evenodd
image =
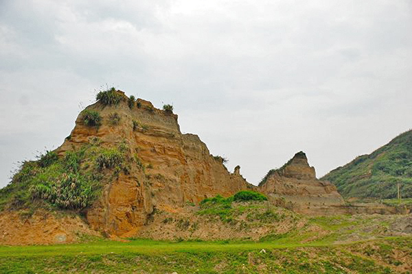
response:
<svg viewBox="0 0 412 274"><path fill-rule="evenodd" d="M316 178L303 152L296 153L282 168L269 172L264 180L259 190L296 212L325 214L330 211L328 208L345 204L334 185Z"/></svg>

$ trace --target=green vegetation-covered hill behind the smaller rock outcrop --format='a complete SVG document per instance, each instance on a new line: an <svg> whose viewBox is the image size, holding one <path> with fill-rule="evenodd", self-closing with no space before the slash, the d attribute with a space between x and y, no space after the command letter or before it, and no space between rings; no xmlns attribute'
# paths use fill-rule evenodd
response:
<svg viewBox="0 0 412 274"><path fill-rule="evenodd" d="M343 197L395 198L398 183L402 197L412 197L412 130L321 179L335 184Z"/></svg>

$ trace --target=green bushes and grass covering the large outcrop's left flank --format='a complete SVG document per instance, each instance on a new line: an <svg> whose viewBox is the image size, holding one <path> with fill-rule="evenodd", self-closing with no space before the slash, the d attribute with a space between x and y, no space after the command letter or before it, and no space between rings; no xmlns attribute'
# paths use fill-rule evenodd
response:
<svg viewBox="0 0 412 274"><path fill-rule="evenodd" d="M98 140L57 158L47 151L37 161L23 162L12 182L0 189L0 209L56 208L82 210L100 195L102 172L128 172L124 145L106 149Z"/></svg>

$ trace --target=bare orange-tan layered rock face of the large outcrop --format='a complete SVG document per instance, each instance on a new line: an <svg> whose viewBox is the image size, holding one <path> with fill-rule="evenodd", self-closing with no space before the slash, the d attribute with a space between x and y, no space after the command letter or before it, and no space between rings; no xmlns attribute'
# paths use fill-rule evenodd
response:
<svg viewBox="0 0 412 274"><path fill-rule="evenodd" d="M102 116L100 127L84 125L80 113L70 138L57 150L64 155L89 142L127 147L128 172L117 177L105 173L102 197L87 210L93 229L131 236L150 221L155 210L176 212L188 202L253 188L238 171L229 173L222 159L210 155L198 136L181 134L177 115L141 99L137 100L139 107L130 109L121 93L124 101L118 105L98 102L87 107ZM116 125L110 123L114 113L120 117Z"/></svg>

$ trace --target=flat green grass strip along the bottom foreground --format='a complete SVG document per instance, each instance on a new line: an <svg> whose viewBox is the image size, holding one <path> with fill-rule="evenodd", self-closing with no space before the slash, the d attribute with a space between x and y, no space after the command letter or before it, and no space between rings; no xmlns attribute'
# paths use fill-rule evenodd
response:
<svg viewBox="0 0 412 274"><path fill-rule="evenodd" d="M0 247L0 273L409 273L412 238L350 245L93 240Z"/></svg>

